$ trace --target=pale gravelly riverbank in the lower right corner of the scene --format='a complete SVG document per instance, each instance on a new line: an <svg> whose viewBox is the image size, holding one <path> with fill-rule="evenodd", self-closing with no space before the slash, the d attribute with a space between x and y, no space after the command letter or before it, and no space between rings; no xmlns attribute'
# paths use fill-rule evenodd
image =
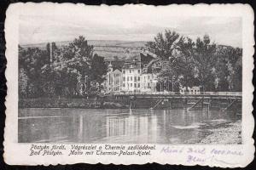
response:
<svg viewBox="0 0 256 170"><path fill-rule="evenodd" d="M218 123L208 127L202 144L241 144L241 121Z"/></svg>

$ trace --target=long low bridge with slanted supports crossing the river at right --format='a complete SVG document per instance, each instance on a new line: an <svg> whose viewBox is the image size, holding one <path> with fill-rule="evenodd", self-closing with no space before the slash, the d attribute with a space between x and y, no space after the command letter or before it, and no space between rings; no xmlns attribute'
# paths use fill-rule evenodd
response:
<svg viewBox="0 0 256 170"><path fill-rule="evenodd" d="M126 103L134 103L134 107L144 105L145 108L159 109L163 105L166 108L185 107L188 110L196 108L218 108L229 111L230 108L241 110L241 92L157 92L157 93L135 93L135 94L113 94L115 99L125 100ZM237 106L238 105L238 106Z"/></svg>

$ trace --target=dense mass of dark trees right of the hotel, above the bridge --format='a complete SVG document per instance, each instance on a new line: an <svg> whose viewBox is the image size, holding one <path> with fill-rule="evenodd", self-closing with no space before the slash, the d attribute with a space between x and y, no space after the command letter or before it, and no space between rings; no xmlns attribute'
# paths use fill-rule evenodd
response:
<svg viewBox="0 0 256 170"><path fill-rule="evenodd" d="M193 41L175 31L157 34L146 48L168 63L168 69L160 72L160 80L175 76L176 86L241 91L241 48L217 45L207 35Z"/></svg>

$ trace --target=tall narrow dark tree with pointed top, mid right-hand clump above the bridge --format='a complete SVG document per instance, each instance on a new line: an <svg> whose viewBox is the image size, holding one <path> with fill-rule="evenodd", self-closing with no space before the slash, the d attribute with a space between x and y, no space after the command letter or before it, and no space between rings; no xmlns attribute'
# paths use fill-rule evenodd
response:
<svg viewBox="0 0 256 170"><path fill-rule="evenodd" d="M193 63L195 65L195 77L201 83L203 91L214 88L212 69L217 59L215 52L216 44L211 42L209 36L205 35L202 40L200 37L196 39Z"/></svg>

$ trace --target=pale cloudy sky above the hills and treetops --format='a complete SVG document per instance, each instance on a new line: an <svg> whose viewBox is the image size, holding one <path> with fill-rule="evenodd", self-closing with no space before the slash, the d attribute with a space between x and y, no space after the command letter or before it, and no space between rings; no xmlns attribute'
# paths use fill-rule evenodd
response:
<svg viewBox="0 0 256 170"><path fill-rule="evenodd" d="M213 42L241 48L240 17L188 17L168 14L83 14L20 15L20 44L88 40L153 41L158 32L177 31L192 39L208 34Z"/></svg>

